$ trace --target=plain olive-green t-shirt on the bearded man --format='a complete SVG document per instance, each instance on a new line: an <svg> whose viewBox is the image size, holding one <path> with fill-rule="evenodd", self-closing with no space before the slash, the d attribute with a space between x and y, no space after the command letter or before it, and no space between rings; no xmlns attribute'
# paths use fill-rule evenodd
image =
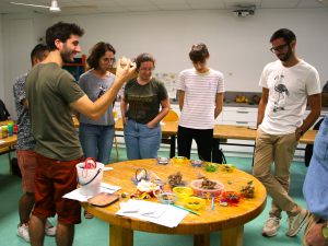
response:
<svg viewBox="0 0 328 246"><path fill-rule="evenodd" d="M83 156L70 103L84 95L74 78L57 63L38 63L25 79L35 152L54 160Z"/></svg>

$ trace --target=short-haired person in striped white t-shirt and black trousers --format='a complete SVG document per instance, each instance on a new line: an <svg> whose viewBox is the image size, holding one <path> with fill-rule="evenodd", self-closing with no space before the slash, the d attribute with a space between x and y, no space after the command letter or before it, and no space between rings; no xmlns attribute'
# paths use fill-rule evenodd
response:
<svg viewBox="0 0 328 246"><path fill-rule="evenodd" d="M211 162L214 120L222 112L224 79L208 68L207 46L195 44L189 51L194 68L181 71L178 82L179 108L178 155L190 159L195 139L200 159Z"/></svg>

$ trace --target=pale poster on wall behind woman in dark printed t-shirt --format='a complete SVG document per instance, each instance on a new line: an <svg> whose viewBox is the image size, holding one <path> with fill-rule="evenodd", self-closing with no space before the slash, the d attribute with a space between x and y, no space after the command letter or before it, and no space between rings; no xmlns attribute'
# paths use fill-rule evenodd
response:
<svg viewBox="0 0 328 246"><path fill-rule="evenodd" d="M156 78L164 83L167 91L168 98L176 99L178 73L155 73L153 74L153 78ZM124 83L124 86L118 91L117 93L118 99L120 99L124 96L125 86L126 83Z"/></svg>

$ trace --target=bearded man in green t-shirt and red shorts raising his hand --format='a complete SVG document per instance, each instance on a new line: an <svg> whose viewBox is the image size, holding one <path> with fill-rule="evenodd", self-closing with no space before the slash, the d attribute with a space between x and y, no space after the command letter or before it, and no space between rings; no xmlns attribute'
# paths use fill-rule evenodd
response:
<svg viewBox="0 0 328 246"><path fill-rule="evenodd" d="M35 207L30 221L31 245L43 245L45 222L58 214L57 245L72 245L74 224L81 223L79 201L63 195L77 188L75 165L83 153L72 120L71 107L97 120L112 105L118 90L136 67L125 69L117 62L112 87L96 102L91 102L74 78L61 67L80 52L84 31L75 24L58 22L46 32L48 57L33 68L25 79L31 131L36 139Z"/></svg>

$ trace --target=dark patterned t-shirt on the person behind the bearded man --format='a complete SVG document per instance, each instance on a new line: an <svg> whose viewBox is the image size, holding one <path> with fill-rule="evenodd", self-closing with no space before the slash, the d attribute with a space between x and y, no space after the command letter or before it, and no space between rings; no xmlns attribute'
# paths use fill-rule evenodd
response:
<svg viewBox="0 0 328 246"><path fill-rule="evenodd" d="M19 77L13 85L13 96L17 114L17 150L34 150L36 140L31 133L31 125L28 110L22 104L22 99L26 99L24 82L27 73Z"/></svg>

